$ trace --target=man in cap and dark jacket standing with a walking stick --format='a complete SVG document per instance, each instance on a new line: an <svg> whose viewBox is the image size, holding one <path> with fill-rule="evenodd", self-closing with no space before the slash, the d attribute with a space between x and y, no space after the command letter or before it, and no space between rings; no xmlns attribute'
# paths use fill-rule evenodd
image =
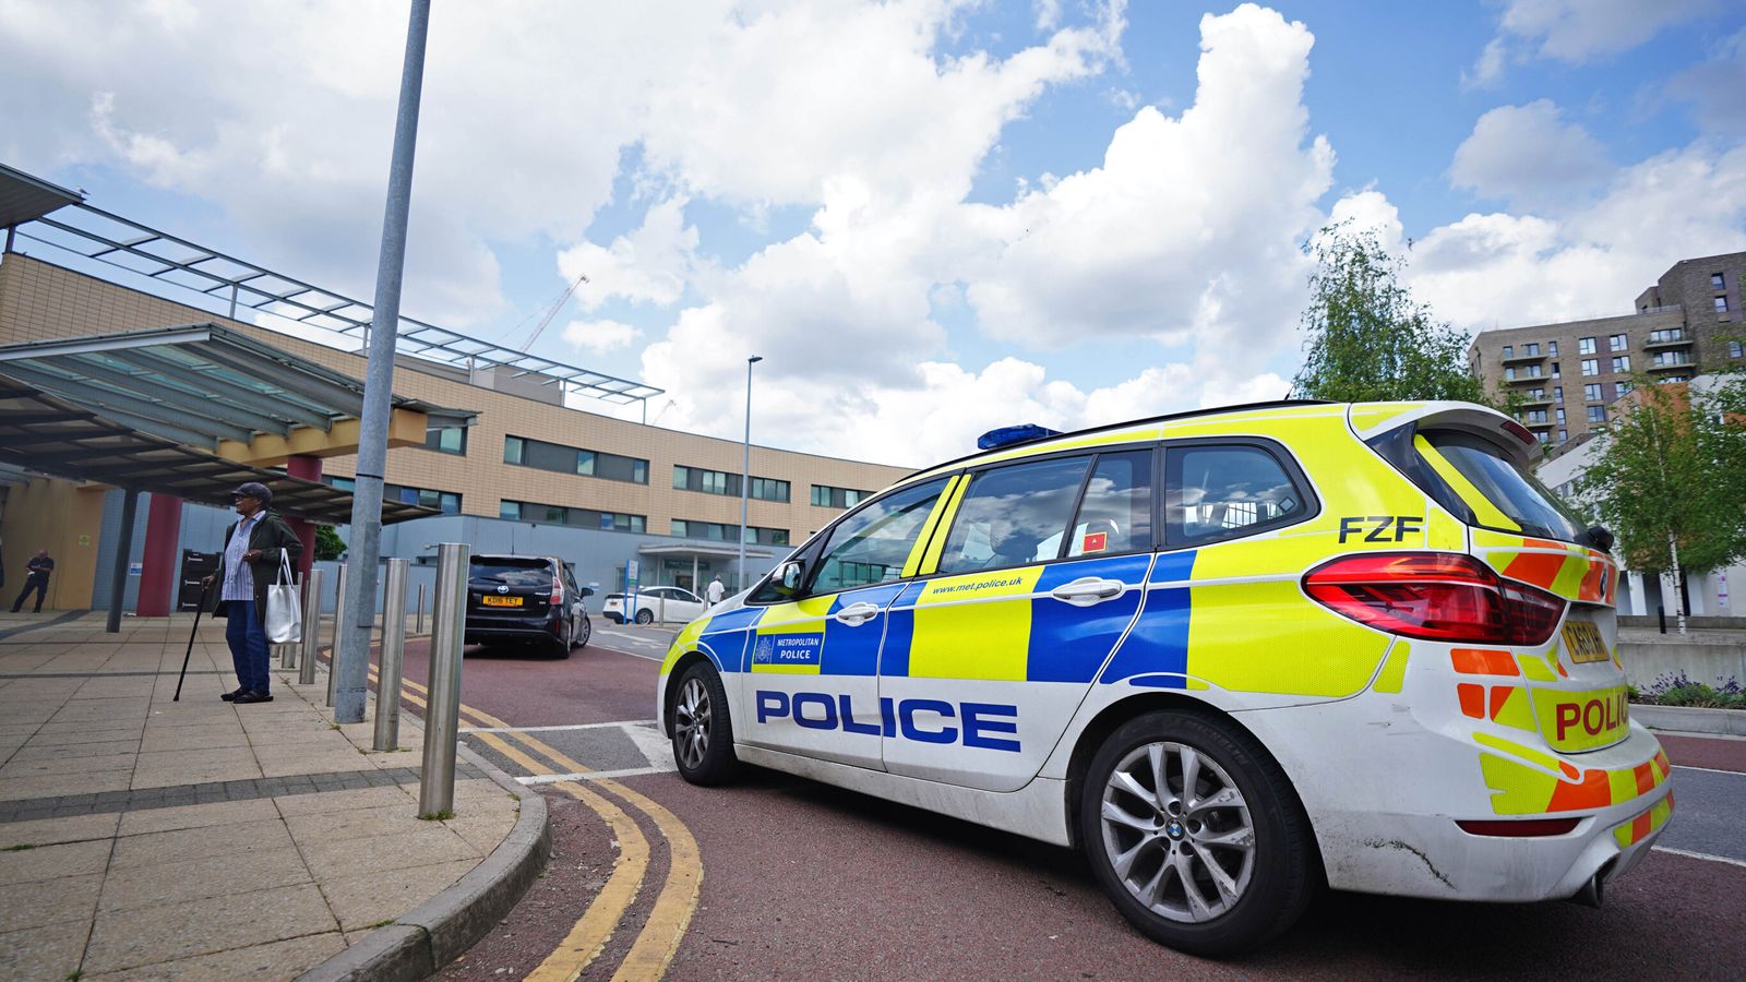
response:
<svg viewBox="0 0 1746 982"><path fill-rule="evenodd" d="M281 559L297 568L304 543L285 519L267 510L272 491L265 484L243 484L230 493L230 503L239 517L223 533L218 571L201 580L206 592L217 594L211 612L213 617L225 619L223 640L230 645L230 662L236 666L237 688L220 699L237 704L272 702L267 676L267 587L272 585Z"/></svg>

